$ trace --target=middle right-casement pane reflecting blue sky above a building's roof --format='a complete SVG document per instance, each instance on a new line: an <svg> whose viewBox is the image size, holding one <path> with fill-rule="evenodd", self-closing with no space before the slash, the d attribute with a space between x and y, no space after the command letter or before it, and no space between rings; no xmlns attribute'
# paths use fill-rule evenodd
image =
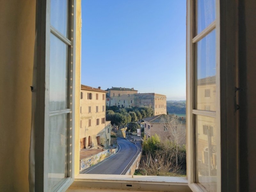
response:
<svg viewBox="0 0 256 192"><path fill-rule="evenodd" d="M196 109L216 110L216 37L215 30L196 43Z"/></svg>

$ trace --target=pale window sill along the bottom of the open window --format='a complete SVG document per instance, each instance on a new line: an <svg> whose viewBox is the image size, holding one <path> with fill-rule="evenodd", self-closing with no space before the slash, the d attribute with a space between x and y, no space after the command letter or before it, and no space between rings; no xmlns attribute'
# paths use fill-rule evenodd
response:
<svg viewBox="0 0 256 192"><path fill-rule="evenodd" d="M185 177L103 174L79 174L67 191L78 192L81 189L92 188L100 189L97 191L102 192L115 191L115 189L117 191L129 190L130 192L131 190L191 192Z"/></svg>

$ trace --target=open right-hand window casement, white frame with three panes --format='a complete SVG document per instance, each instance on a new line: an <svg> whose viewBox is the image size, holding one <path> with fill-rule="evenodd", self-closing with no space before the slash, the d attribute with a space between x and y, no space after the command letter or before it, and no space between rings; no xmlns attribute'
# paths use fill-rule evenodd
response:
<svg viewBox="0 0 256 192"><path fill-rule="evenodd" d="M187 3L187 137L188 145L195 148L187 153L191 154L187 156L188 184L195 191L220 191L220 142L213 139L215 134L220 138L220 105L216 102L220 100L219 1ZM211 89L216 89L215 95L211 96Z"/></svg>

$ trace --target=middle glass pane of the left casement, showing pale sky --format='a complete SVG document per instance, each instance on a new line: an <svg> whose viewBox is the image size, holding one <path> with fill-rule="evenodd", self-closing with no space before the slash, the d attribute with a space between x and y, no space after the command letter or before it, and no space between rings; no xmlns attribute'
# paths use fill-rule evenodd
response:
<svg viewBox="0 0 256 192"><path fill-rule="evenodd" d="M51 34L50 111L68 107L68 45Z"/></svg>

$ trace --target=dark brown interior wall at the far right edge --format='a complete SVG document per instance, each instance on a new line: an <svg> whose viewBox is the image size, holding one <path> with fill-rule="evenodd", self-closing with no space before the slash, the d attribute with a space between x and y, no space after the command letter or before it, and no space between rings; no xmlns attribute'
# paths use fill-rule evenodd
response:
<svg viewBox="0 0 256 192"><path fill-rule="evenodd" d="M256 3L239 1L240 191L256 191Z"/></svg>

